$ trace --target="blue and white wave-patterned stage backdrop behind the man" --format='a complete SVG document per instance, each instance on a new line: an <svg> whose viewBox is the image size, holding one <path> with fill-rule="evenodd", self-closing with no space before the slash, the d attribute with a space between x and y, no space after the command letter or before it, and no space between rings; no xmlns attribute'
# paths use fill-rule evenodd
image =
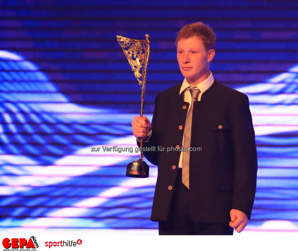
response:
<svg viewBox="0 0 298 252"><path fill-rule="evenodd" d="M0 3L1 228L158 227L150 221L157 168L125 177L139 157L131 121L141 89L116 35L150 35L151 120L156 94L183 81L176 33L203 21L217 36L213 75L250 101L258 178L247 229L298 230L297 3Z"/></svg>

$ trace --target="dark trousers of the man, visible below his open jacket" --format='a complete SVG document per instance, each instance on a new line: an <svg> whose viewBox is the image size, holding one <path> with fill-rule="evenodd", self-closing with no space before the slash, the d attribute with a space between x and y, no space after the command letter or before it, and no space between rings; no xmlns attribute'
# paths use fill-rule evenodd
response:
<svg viewBox="0 0 298 252"><path fill-rule="evenodd" d="M229 223L198 223L190 221L190 193L181 181L181 169L173 193L167 221L159 221L159 235L233 235Z"/></svg>

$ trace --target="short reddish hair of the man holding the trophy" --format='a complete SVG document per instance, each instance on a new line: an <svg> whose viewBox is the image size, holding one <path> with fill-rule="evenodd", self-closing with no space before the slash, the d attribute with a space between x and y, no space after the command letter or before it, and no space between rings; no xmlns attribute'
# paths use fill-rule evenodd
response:
<svg viewBox="0 0 298 252"><path fill-rule="evenodd" d="M208 24L203 22L197 22L193 24L187 24L177 32L176 48L180 39L187 39L191 37L200 38L205 46L206 51L215 49L215 34Z"/></svg>

